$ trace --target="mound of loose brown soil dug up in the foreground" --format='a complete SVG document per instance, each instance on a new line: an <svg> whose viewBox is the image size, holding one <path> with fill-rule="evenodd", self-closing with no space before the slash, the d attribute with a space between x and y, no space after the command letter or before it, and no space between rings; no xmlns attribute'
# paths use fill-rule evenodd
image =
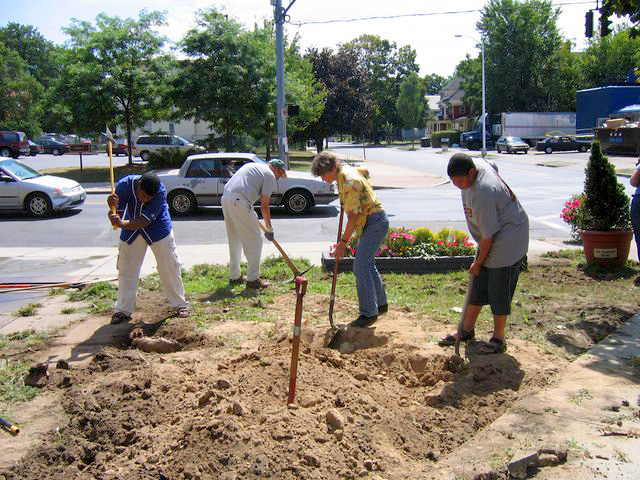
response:
<svg viewBox="0 0 640 480"><path fill-rule="evenodd" d="M562 262L545 260L530 274L551 285L599 281L581 271L567 279L573 274L554 268ZM14 447L9 458L3 453L0 478L433 478L439 458L517 399L552 384L570 353L638 310L634 299L541 298L528 321L540 322L541 338L564 355L516 338L514 325L506 354L479 355L482 342L475 342L464 365L434 342L450 326L409 308L392 307L375 328L343 332L338 350L324 348L326 325L304 325L296 401L287 405L295 300L291 292L264 307L275 323L237 318L200 330L193 319L163 321L159 293L141 298L131 329L176 340L183 350L161 355L114 345L87 367L52 366L44 403L61 406L51 409L55 422L29 449L15 448L23 434L0 440L0 448ZM325 312L327 296L307 295L304 305L307 313ZM340 317L354 305L338 299L335 311Z"/></svg>

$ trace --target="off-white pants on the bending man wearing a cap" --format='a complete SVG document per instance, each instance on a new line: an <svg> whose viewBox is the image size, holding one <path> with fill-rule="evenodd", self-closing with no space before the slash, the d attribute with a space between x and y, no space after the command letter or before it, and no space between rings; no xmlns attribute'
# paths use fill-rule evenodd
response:
<svg viewBox="0 0 640 480"><path fill-rule="evenodd" d="M222 213L229 242L229 279L240 278L240 261L244 251L247 257L247 281L257 280L260 278L262 236L253 205L240 195L223 195Z"/></svg>

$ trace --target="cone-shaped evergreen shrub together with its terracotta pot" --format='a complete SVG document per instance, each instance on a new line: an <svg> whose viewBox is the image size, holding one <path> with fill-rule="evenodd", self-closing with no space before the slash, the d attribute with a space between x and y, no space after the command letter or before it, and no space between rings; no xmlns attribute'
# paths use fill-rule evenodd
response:
<svg viewBox="0 0 640 480"><path fill-rule="evenodd" d="M579 234L587 263L624 265L633 238L629 197L597 140L591 144L585 174L585 211Z"/></svg>

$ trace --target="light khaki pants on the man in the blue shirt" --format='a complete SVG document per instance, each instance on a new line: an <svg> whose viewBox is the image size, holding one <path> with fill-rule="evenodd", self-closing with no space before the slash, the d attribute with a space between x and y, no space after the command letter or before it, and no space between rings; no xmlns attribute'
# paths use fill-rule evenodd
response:
<svg viewBox="0 0 640 480"><path fill-rule="evenodd" d="M187 307L184 285L180 275L180 260L176 253L173 230L162 240L151 244L156 257L160 283L173 308ZM131 245L120 240L118 250L118 301L115 311L131 315L136 309L136 292L140 279L140 268L147 252L147 242L138 235Z"/></svg>

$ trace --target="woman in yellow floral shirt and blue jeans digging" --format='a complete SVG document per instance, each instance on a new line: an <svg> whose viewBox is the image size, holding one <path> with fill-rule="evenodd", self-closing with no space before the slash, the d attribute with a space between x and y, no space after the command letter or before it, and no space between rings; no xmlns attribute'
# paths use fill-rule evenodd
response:
<svg viewBox="0 0 640 480"><path fill-rule="evenodd" d="M375 255L389 230L389 219L363 170L342 165L329 152L319 153L311 163L311 173L316 177L338 183L340 203L347 213L347 226L335 250L336 261L344 255L351 235L360 237L353 262L360 316L351 322L360 328L371 326L378 315L388 310L387 294L376 268Z"/></svg>

